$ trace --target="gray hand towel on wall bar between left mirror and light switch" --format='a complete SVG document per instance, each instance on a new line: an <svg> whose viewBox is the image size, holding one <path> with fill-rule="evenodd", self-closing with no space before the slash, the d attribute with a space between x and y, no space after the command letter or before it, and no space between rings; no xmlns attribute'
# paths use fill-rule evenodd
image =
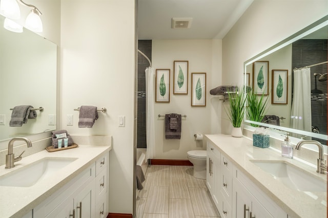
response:
<svg viewBox="0 0 328 218"><path fill-rule="evenodd" d="M97 107L95 106L80 107L80 114L78 116L78 127L91 128L96 119L98 119Z"/></svg>

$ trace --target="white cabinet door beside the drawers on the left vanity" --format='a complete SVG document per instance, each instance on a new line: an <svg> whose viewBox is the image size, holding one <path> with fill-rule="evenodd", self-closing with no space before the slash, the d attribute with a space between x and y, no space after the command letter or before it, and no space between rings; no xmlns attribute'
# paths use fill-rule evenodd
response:
<svg viewBox="0 0 328 218"><path fill-rule="evenodd" d="M95 217L95 183L90 182L82 190L77 191L74 197L74 209L76 218Z"/></svg>

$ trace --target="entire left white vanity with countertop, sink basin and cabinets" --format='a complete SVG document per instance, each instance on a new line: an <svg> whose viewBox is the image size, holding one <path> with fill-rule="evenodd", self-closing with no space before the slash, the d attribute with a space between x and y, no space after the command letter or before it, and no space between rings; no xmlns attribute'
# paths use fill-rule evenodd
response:
<svg viewBox="0 0 328 218"><path fill-rule="evenodd" d="M92 136L91 136L92 137ZM78 148L57 152L46 150L24 157L15 167L0 168L0 217L106 217L108 214L109 151L106 145L78 141ZM101 144L101 143L100 143ZM34 184L14 176L45 163ZM56 167L56 164L60 167ZM31 173L28 177L36 177Z"/></svg>

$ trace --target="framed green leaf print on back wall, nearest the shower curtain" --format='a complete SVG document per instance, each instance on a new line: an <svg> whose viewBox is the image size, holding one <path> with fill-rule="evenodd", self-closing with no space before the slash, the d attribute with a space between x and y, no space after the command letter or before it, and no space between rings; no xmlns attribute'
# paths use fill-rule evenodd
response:
<svg viewBox="0 0 328 218"><path fill-rule="evenodd" d="M156 102L170 102L170 69L156 69Z"/></svg>

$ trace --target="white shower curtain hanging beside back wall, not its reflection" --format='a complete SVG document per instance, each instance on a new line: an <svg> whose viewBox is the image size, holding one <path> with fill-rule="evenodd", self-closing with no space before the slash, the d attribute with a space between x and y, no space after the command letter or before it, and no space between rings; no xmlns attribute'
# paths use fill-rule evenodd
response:
<svg viewBox="0 0 328 218"><path fill-rule="evenodd" d="M155 157L155 120L154 120L154 68L148 67L146 72L146 161Z"/></svg>

